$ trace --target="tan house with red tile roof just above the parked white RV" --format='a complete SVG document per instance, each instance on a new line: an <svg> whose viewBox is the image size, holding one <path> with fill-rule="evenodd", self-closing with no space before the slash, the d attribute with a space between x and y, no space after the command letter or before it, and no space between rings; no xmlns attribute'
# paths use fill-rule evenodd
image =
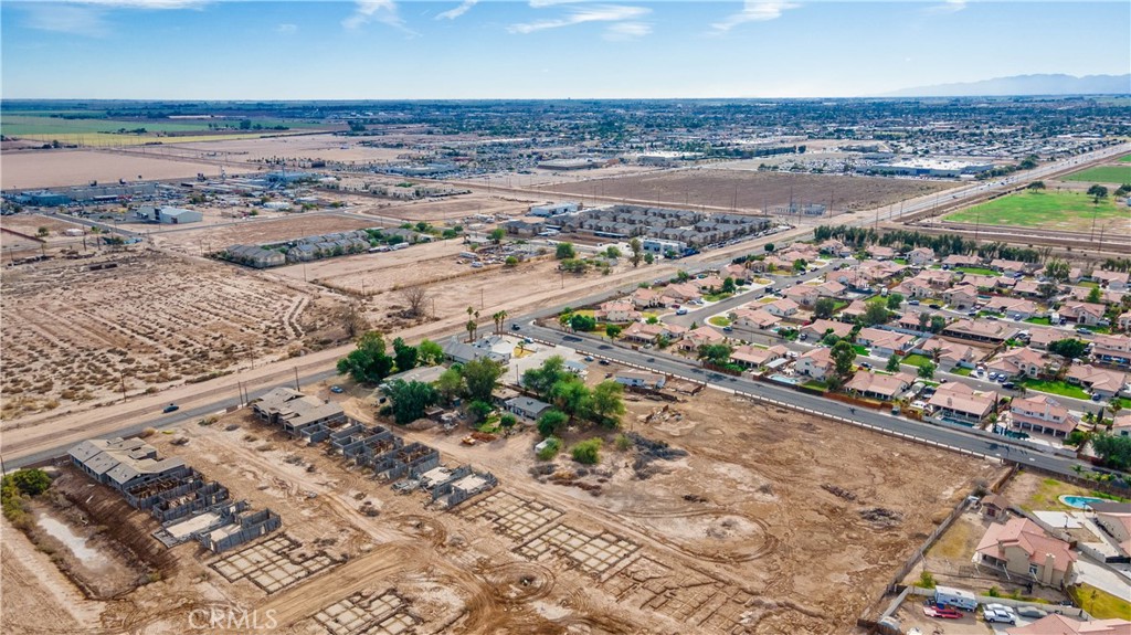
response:
<svg viewBox="0 0 1131 635"><path fill-rule="evenodd" d="M981 565L1057 589L1071 582L1077 559L1068 542L1025 517L991 524L975 555Z"/></svg>

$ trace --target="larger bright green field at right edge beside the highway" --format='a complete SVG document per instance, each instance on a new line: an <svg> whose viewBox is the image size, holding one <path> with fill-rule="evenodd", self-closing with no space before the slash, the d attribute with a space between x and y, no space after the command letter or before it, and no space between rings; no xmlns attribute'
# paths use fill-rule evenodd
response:
<svg viewBox="0 0 1131 635"><path fill-rule="evenodd" d="M1082 192L1026 191L986 201L948 215L952 223L979 223L982 225L1005 225L1013 227L1038 227L1063 232L1088 232L1093 218L1108 232L1126 232L1126 206L1111 198L1098 203Z"/></svg>

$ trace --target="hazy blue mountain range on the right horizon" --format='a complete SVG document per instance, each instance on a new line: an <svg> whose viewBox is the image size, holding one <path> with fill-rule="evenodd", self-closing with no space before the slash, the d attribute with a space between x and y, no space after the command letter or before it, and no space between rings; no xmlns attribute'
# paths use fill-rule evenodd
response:
<svg viewBox="0 0 1131 635"><path fill-rule="evenodd" d="M886 97L999 97L1016 95L1126 95L1131 75L1016 75L982 81L918 86Z"/></svg>

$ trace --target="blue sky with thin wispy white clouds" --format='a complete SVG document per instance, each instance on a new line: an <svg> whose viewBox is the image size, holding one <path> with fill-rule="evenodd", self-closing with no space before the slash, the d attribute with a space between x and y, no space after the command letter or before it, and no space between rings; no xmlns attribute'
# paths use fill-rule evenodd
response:
<svg viewBox="0 0 1131 635"><path fill-rule="evenodd" d="M1131 72L1131 2L0 3L5 98L836 97Z"/></svg>

